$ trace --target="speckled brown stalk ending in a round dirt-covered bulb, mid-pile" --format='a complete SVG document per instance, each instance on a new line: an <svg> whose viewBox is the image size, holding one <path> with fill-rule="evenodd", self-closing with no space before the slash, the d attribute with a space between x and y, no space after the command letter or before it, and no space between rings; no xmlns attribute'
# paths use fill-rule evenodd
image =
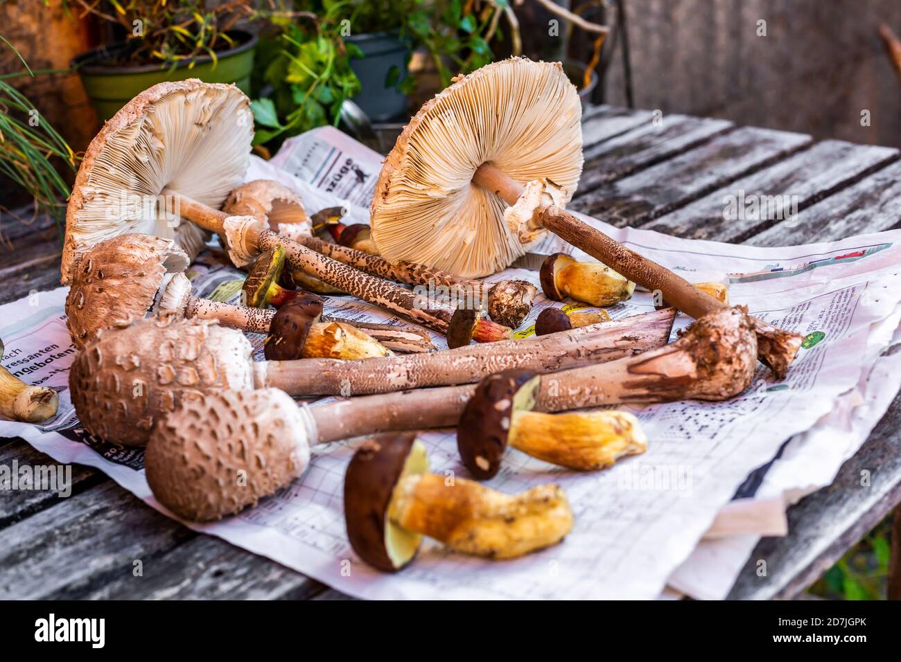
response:
<svg viewBox="0 0 901 662"><path fill-rule="evenodd" d="M343 237L343 235L341 236ZM309 249L314 249L329 258L373 276L406 285L446 288L449 295L454 298L460 299L469 296L477 302L484 302L487 306L488 316L495 322L511 329L516 329L523 323L525 317L532 310L532 299L538 294L538 288L524 280L508 278L497 283L485 283L480 280L461 278L447 271L414 262L402 260L392 264L379 256L375 249L357 250L341 243L331 243L313 236L304 237L299 241Z"/></svg>

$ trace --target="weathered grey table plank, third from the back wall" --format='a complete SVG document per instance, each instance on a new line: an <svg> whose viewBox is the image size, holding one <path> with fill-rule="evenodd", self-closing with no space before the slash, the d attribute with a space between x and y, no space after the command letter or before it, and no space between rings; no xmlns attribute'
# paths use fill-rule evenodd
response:
<svg viewBox="0 0 901 662"><path fill-rule="evenodd" d="M569 208L614 225L642 225L809 143L800 133L742 127L584 195L577 192Z"/></svg>

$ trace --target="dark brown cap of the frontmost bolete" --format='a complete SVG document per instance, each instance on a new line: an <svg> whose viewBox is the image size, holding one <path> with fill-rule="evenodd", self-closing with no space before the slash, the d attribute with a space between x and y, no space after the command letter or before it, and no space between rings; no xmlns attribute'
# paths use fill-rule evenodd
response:
<svg viewBox="0 0 901 662"><path fill-rule="evenodd" d="M350 546L370 566L396 572L413 560L423 536L396 527L387 513L400 479L428 469L428 454L414 433L379 435L350 459L344 521Z"/></svg>

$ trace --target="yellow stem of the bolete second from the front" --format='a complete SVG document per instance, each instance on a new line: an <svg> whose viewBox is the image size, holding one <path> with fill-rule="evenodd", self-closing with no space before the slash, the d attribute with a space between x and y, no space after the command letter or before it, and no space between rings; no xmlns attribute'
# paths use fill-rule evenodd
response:
<svg viewBox="0 0 901 662"><path fill-rule="evenodd" d="M594 471L648 449L638 419L627 412L514 412L507 443L532 458Z"/></svg>

